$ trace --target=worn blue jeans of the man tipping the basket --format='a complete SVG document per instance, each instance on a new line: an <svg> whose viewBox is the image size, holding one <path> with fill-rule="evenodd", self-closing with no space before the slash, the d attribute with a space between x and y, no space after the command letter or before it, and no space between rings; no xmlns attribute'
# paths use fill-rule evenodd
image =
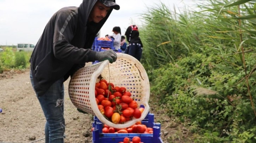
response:
<svg viewBox="0 0 256 143"><path fill-rule="evenodd" d="M30 80L34 88L34 81L30 71ZM46 118L45 143L64 143L64 79L56 81L43 95L38 97ZM34 89L35 90L35 89Z"/></svg>

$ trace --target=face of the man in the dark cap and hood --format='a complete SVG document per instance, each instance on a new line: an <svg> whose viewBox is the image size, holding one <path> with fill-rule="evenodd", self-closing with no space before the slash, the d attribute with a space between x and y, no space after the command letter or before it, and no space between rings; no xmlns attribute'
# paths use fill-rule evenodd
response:
<svg viewBox="0 0 256 143"><path fill-rule="evenodd" d="M110 10L110 7L106 7L101 2L97 1L90 13L89 21L93 21L95 23L100 22L100 20L105 18L109 10Z"/></svg>

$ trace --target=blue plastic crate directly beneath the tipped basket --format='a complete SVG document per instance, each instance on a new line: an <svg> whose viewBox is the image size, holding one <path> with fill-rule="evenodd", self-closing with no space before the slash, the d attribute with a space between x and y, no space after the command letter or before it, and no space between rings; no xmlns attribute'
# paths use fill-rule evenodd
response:
<svg viewBox="0 0 256 143"><path fill-rule="evenodd" d="M153 134L104 134L102 133L103 123L101 123L96 116L94 116L94 121L92 127L95 129L92 131L92 142L93 143L118 143L122 142L124 137L129 137L132 139L134 136L141 138L141 142L144 143L163 143L160 138L161 135L161 124L154 123L154 114L148 113L146 116L147 119L141 121L142 124L145 124L147 127L153 128Z"/></svg>

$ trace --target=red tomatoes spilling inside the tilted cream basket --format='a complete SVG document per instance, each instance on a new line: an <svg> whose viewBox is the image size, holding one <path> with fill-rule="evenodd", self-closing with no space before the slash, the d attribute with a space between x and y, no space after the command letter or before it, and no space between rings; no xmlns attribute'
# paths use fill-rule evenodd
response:
<svg viewBox="0 0 256 143"><path fill-rule="evenodd" d="M131 93L125 87L114 86L106 80L95 84L95 97L100 113L115 124L122 124L140 118L144 108L138 109L138 104L131 98Z"/></svg>

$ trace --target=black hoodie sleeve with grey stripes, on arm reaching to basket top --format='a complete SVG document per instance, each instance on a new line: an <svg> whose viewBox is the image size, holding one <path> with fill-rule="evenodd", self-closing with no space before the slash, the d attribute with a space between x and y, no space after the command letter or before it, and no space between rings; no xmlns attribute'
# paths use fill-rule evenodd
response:
<svg viewBox="0 0 256 143"><path fill-rule="evenodd" d="M93 62L95 61L95 51L71 45L75 31L79 30L76 29L77 21L74 19L74 16L77 15L78 13L75 11L59 11L56 14L53 41L54 56L65 62L81 64Z"/></svg>

